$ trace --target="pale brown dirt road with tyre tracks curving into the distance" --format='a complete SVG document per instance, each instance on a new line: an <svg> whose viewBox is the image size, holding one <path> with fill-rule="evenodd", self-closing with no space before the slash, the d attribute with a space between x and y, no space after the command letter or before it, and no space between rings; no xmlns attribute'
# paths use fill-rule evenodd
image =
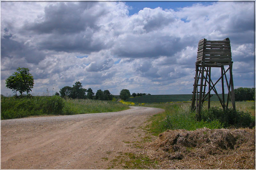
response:
<svg viewBox="0 0 256 170"><path fill-rule="evenodd" d="M129 152L127 143L145 135L139 127L149 115L163 111L131 107L112 113L2 120L1 168L108 168L118 152Z"/></svg>

